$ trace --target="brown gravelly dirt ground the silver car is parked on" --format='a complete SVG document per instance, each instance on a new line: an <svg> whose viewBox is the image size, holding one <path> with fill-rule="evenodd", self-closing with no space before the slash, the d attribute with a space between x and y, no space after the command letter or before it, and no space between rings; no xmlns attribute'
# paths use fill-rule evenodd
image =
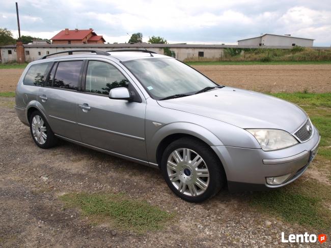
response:
<svg viewBox="0 0 331 248"><path fill-rule="evenodd" d="M255 211L250 193L224 190L192 204L176 197L157 169L64 141L40 149L13 106L13 98L0 98L0 247L288 247L281 232L314 233ZM144 235L92 226L64 208L59 196L70 192L124 192L176 216Z"/></svg>

